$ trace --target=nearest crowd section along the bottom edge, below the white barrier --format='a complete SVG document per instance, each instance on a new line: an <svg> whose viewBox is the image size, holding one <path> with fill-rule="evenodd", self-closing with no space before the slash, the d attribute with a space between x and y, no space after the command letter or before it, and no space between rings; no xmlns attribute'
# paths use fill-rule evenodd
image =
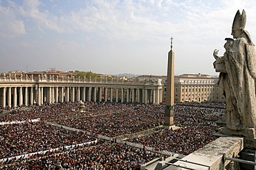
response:
<svg viewBox="0 0 256 170"><path fill-rule="evenodd" d="M145 149L99 140L91 147L78 147L62 153L33 156L33 159L12 162L3 167L4 169L133 170L140 169L141 164L159 157L158 153Z"/></svg>

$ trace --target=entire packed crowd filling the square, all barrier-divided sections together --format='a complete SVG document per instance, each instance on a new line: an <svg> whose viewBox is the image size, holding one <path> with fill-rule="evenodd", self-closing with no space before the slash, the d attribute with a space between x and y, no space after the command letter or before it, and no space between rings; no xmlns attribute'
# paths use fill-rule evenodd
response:
<svg viewBox="0 0 256 170"><path fill-rule="evenodd" d="M57 129L44 124L45 121L112 138L164 124L165 105L86 102L84 113L76 111L78 105L76 102L45 103L27 110L16 109L1 117L1 122L26 120L26 123L1 126L0 159L93 140L83 132ZM180 128L162 129L128 141L188 155L216 138L213 134L217 125L213 122L221 116L223 110L219 107L176 105L174 125ZM35 118L40 122L30 123ZM144 149L102 141L93 147L29 159L25 164L8 163L6 169L30 169L28 166L35 169L136 169L157 156Z"/></svg>

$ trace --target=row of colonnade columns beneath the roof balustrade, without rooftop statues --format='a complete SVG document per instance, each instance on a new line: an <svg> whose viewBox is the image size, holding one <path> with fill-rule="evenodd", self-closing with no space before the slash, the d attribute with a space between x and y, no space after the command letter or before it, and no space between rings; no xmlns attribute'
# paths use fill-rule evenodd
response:
<svg viewBox="0 0 256 170"><path fill-rule="evenodd" d="M51 83L28 85L1 85L0 106L31 105L37 103L63 103L74 101L115 102L115 103L154 103L159 104L163 98L160 85L128 85L113 87L108 84L80 85L80 83Z"/></svg>

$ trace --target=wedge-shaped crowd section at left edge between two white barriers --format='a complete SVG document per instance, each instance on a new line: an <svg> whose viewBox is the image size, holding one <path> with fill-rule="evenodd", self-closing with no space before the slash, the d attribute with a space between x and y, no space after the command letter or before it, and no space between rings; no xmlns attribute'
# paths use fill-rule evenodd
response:
<svg viewBox="0 0 256 170"><path fill-rule="evenodd" d="M40 123L0 125L0 159L90 142L81 131L67 131Z"/></svg>

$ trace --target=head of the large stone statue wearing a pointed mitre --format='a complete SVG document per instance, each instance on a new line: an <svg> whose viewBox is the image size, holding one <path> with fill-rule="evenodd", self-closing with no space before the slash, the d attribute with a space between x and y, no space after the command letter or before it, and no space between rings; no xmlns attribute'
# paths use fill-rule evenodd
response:
<svg viewBox="0 0 256 170"><path fill-rule="evenodd" d="M240 36L244 32L244 28L246 26L246 12L243 10L242 13L240 13L239 10L237 10L237 13L235 14L235 18L232 25L232 32L231 35L234 39L237 39L238 36Z"/></svg>

